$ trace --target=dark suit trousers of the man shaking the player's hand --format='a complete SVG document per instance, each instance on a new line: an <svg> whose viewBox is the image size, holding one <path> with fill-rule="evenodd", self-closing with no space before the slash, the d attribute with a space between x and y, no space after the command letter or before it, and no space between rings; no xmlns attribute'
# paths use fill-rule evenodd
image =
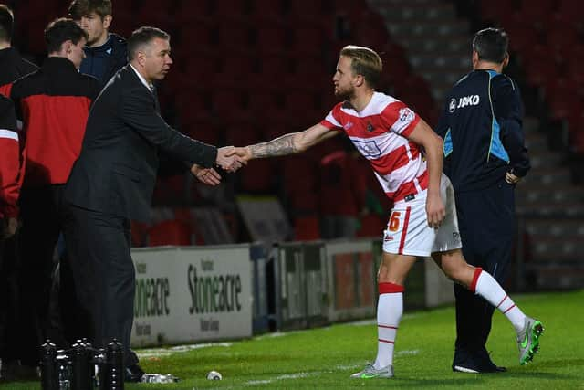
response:
<svg viewBox="0 0 584 390"><path fill-rule="evenodd" d="M126 365L138 363L130 351L135 273L130 258L130 220L67 205L65 243L78 299L90 313L91 342L99 348L117 339Z"/></svg>

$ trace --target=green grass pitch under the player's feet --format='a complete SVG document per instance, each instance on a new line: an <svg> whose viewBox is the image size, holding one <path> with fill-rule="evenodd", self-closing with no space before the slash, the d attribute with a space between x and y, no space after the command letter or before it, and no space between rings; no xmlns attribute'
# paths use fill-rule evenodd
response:
<svg viewBox="0 0 584 390"><path fill-rule="evenodd" d="M515 332L495 312L487 349L504 374L453 373L454 309L406 313L397 335L393 379L354 380L349 374L375 359L374 321L270 333L250 340L137 351L148 373L172 373L176 384L126 384L133 389L582 389L584 390L584 290L515 297L546 331L534 361L521 366ZM216 370L222 381L207 380ZM38 383L0 389L38 389Z"/></svg>

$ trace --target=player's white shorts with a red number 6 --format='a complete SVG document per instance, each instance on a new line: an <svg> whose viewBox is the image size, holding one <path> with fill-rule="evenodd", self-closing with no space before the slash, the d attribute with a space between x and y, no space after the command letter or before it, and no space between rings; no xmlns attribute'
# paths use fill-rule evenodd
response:
<svg viewBox="0 0 584 390"><path fill-rule="evenodd" d="M440 195L446 208L443 223L437 229L428 226L426 191L410 201L397 202L383 231L383 251L399 255L427 257L433 252L463 248L458 230L454 188L443 174Z"/></svg>

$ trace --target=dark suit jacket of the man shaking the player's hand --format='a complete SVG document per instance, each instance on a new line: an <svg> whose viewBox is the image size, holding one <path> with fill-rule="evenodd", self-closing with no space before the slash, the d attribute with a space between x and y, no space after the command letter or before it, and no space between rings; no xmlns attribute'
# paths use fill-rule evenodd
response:
<svg viewBox="0 0 584 390"><path fill-rule="evenodd" d="M66 200L110 216L148 221L160 150L203 167L213 166L217 155L214 146L194 141L166 124L155 95L126 65L89 111Z"/></svg>

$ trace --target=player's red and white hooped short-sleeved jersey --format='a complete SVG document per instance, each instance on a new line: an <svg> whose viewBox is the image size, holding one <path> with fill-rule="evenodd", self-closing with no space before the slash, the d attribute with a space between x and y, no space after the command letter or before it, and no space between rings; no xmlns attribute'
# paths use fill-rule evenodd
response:
<svg viewBox="0 0 584 390"><path fill-rule="evenodd" d="M420 146L407 137L420 117L400 100L375 92L369 104L356 111L345 101L328 112L320 124L344 131L369 160L386 195L398 202L428 187L426 161Z"/></svg>

